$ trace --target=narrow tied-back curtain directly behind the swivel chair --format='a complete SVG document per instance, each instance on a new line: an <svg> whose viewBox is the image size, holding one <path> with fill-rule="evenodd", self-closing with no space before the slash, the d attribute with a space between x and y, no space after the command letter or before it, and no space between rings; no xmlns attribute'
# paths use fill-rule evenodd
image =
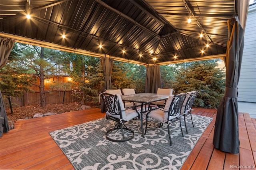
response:
<svg viewBox="0 0 256 170"><path fill-rule="evenodd" d="M104 73L104 79L105 79L105 84L104 84L104 89L112 89L112 84L111 84L111 72L112 72L112 65L113 65L113 59L109 57L101 57L100 58L100 63L102 65L103 73ZM103 113L105 111L104 109L104 103L101 102L101 112Z"/></svg>

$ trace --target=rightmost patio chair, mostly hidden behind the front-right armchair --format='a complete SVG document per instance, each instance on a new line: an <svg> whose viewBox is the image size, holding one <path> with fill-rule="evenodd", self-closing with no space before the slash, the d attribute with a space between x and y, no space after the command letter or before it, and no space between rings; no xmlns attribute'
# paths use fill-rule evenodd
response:
<svg viewBox="0 0 256 170"><path fill-rule="evenodd" d="M192 120L192 110L193 110L192 105L194 104L194 99L196 98L198 93L199 93L199 91L190 91L190 92L186 93L187 96L182 105L181 114L184 117L184 123L185 123L187 133L188 133L188 128L187 128L187 124L186 124L186 116L190 115L191 122L194 127L194 123Z"/></svg>

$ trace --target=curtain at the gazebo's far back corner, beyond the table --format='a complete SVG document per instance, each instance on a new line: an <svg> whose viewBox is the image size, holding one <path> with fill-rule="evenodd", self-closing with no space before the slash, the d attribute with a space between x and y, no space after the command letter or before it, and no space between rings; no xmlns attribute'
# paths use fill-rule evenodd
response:
<svg viewBox="0 0 256 170"><path fill-rule="evenodd" d="M162 88L162 79L159 65L148 65L146 67L146 93L156 93Z"/></svg>

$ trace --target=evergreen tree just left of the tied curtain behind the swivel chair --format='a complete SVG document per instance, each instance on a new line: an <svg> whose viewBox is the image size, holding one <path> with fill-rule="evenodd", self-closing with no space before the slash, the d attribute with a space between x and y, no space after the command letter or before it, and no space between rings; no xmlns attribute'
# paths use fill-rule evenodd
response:
<svg viewBox="0 0 256 170"><path fill-rule="evenodd" d="M65 53L66 60L72 63L72 67L66 67L68 74L76 86L74 94L83 105L98 104L99 93L104 85L104 75L100 66L100 59L88 55Z"/></svg>

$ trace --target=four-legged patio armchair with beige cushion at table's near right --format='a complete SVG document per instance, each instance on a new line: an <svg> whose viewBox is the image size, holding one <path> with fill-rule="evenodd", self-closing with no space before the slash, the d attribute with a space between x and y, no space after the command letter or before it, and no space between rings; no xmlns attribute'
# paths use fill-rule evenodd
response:
<svg viewBox="0 0 256 170"><path fill-rule="evenodd" d="M185 98L186 98L186 93L180 93L178 95L170 95L170 97L166 101L164 108L156 107L156 109L151 110L149 113L147 113L145 134L148 128L148 117L160 121L159 127L162 127L163 124L166 123L168 128L170 145L172 146L170 124L176 121L180 121L182 103L184 102ZM150 106L150 107L154 107L154 106ZM182 127L181 127L181 121L180 121L180 129L182 132L182 137L184 137Z"/></svg>

